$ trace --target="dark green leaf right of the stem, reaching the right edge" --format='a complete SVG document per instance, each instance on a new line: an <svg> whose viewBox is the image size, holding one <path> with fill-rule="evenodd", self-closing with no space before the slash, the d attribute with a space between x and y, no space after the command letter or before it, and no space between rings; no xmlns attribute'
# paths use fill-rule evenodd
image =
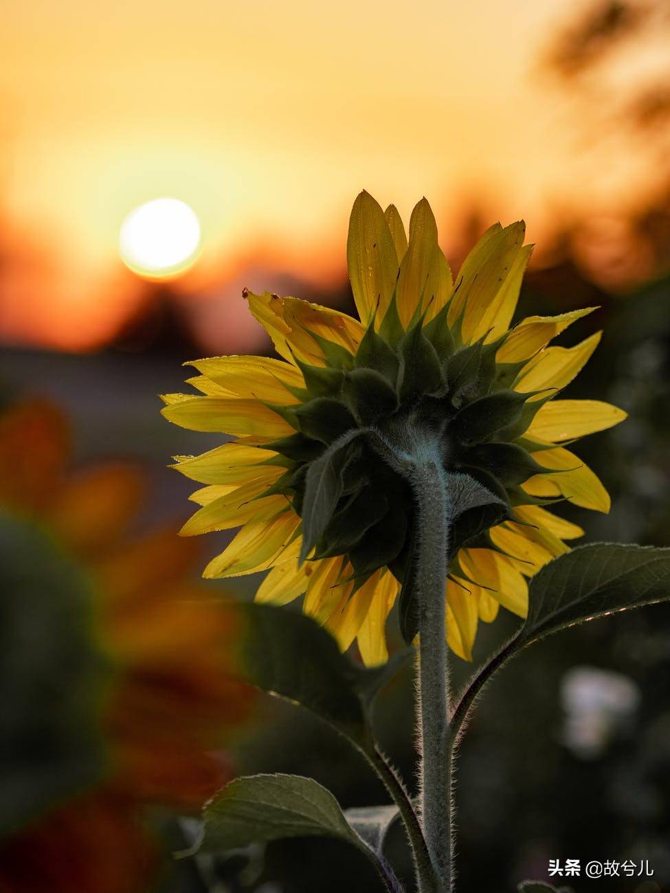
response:
<svg viewBox="0 0 670 893"><path fill-rule="evenodd" d="M529 588L521 647L574 623L670 598L670 548L592 543L546 564Z"/></svg>

